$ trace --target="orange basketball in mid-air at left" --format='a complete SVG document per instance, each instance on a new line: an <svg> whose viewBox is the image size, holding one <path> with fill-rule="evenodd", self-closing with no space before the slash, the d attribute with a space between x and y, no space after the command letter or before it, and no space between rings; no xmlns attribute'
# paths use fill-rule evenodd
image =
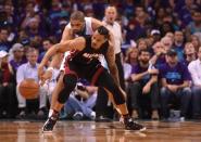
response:
<svg viewBox="0 0 201 142"><path fill-rule="evenodd" d="M25 99L36 99L38 98L39 85L34 79L28 78L21 82L18 91Z"/></svg>

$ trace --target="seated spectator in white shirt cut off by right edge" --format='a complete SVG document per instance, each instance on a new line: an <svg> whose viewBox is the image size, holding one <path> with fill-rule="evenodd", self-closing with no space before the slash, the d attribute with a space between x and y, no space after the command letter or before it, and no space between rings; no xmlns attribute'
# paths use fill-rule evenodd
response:
<svg viewBox="0 0 201 142"><path fill-rule="evenodd" d="M201 118L201 47L198 52L198 60L192 61L188 69L192 77L192 117Z"/></svg>

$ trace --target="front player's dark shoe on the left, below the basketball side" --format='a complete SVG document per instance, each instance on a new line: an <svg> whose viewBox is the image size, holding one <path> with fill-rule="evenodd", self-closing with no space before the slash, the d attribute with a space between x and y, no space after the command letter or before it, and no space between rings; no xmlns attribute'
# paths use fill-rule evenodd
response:
<svg viewBox="0 0 201 142"><path fill-rule="evenodd" d="M52 132L58 119L59 119L59 114L54 114L51 117L49 117L42 127L42 132L43 133Z"/></svg>

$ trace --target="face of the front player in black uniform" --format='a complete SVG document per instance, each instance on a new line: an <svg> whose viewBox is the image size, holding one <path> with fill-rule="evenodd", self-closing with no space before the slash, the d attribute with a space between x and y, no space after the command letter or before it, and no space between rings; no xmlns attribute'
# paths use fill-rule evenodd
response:
<svg viewBox="0 0 201 142"><path fill-rule="evenodd" d="M95 31L91 37L91 47L98 50L105 41L106 39L104 38L104 36L100 35L98 31Z"/></svg>

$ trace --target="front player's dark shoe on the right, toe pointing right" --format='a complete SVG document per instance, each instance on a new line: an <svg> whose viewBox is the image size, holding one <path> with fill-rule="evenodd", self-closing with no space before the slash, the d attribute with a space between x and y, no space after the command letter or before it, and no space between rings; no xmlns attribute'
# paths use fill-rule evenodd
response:
<svg viewBox="0 0 201 142"><path fill-rule="evenodd" d="M123 124L126 130L145 131L147 129L145 126L135 122L131 118L124 118Z"/></svg>

